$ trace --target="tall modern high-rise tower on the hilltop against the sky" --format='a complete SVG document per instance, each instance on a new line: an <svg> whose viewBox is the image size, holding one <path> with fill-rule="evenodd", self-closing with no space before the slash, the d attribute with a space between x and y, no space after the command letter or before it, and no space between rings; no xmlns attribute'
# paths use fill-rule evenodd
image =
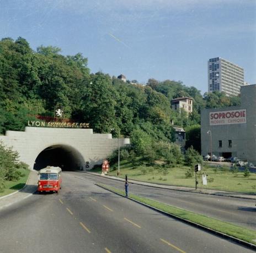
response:
<svg viewBox="0 0 256 253"><path fill-rule="evenodd" d="M208 61L208 92L223 91L227 96L240 94L244 86L243 68L220 57Z"/></svg>

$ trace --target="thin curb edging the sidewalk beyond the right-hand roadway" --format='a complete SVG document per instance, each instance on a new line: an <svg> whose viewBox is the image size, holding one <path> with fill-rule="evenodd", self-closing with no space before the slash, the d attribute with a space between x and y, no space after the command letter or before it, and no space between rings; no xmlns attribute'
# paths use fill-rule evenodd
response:
<svg viewBox="0 0 256 253"><path fill-rule="evenodd" d="M94 174L92 172L86 172L84 171L84 173L88 173L90 175L96 175L98 177L102 177L102 175L100 174ZM124 182L124 179L120 178L120 179L116 179L116 178L113 178L113 176L110 176L108 175L108 177L106 177L108 179L111 179L111 180L116 180L116 181L123 181ZM136 181L136 182L130 182L130 184L137 184L137 185L142 185L142 186L149 186L149 187L152 187L152 188L158 188L158 189L166 189L166 190L174 190L174 191L184 191L186 193L198 193L198 194L206 194L206 195L214 195L214 196L222 196L222 197L234 197L234 198L237 198L237 199L246 199L246 200L255 200L254 198L252 197L246 197L246 196L234 196L234 195L225 195L225 194L216 194L216 193L202 193L200 191L195 191L195 190L186 190L186 189L170 189L170 188L164 188L164 187L160 187L160 186L156 186L156 185L146 185L146 184L141 184L140 181L137 181L137 180L134 180L134 179L131 179L133 181ZM147 183L147 182L145 182ZM162 184L163 185L163 184ZM165 186L165 185L163 185ZM172 186L172 185L170 185ZM254 196L254 195L252 195Z"/></svg>

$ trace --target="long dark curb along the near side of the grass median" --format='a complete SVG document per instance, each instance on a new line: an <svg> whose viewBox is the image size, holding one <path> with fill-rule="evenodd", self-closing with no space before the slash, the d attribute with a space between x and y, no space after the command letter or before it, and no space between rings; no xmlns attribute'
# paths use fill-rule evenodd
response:
<svg viewBox="0 0 256 253"><path fill-rule="evenodd" d="M108 188L106 188L106 187L104 187L104 186L102 186L102 185L98 185L97 183L95 183L95 185L97 185L98 187L103 188L103 189L105 189L105 190L111 191L111 193L114 193L114 194L117 194L117 195L119 195L119 196L125 197L124 195L122 195L122 194L120 194L120 193L116 193L115 191L113 191L113 190L111 190L111 189L108 189ZM159 209L156 208L156 207L153 207L153 206L147 205L147 204L145 204L145 203L143 203L143 202L140 202L140 201L138 201L138 200L132 199L131 197L126 197L126 199L129 199L129 200L131 200L131 201L137 202L138 204L141 204L141 205L143 205L143 206L149 207L149 208L151 208L152 210L157 211L157 212L159 212L159 213L162 213L163 215L166 215L166 216L168 216L168 217L172 217L172 218L174 218L174 219L178 219L179 221L184 222L184 223L186 223L186 224L189 224L190 226L197 227L197 228L199 228L199 229L201 229L201 230L204 230L204 231L207 231L207 232L209 232L209 233L211 233L211 234L216 234L216 235L218 235L219 237L226 238L226 239L230 239L230 240L232 240L232 241L234 241L234 242L236 242L236 243L238 243L238 244L241 244L241 245L243 245L243 246L246 246L247 248L256 250L256 245L255 245L255 244L248 243L247 241L243 241L243 240L238 239L238 238L236 238L236 237L232 237L231 235L227 235L227 234L218 232L218 231L216 231L216 230L214 230L214 229L207 228L207 227L202 226L202 225L200 225L200 224L198 224L198 223L191 222L191 221L189 221L188 219L180 218L180 217L178 217L178 216L173 215L172 213L164 212L164 211L162 211L162 210L159 210Z"/></svg>

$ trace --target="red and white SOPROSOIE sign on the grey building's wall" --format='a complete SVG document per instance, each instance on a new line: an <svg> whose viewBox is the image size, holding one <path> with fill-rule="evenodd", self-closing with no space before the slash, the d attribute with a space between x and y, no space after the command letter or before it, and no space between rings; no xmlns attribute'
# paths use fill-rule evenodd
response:
<svg viewBox="0 0 256 253"><path fill-rule="evenodd" d="M246 109L237 109L221 112L210 112L210 125L245 124Z"/></svg>

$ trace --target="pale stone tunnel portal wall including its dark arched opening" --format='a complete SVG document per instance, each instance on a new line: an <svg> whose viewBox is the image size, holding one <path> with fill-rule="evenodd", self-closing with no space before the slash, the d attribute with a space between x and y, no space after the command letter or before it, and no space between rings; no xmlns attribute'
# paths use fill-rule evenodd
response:
<svg viewBox="0 0 256 253"><path fill-rule="evenodd" d="M89 170L102 164L114 150L130 143L126 138L112 139L111 134L94 134L93 129L40 127L8 130L6 135L0 136L0 141L17 151L19 161L28 164L31 170L48 165L60 166L63 161L63 170Z"/></svg>

